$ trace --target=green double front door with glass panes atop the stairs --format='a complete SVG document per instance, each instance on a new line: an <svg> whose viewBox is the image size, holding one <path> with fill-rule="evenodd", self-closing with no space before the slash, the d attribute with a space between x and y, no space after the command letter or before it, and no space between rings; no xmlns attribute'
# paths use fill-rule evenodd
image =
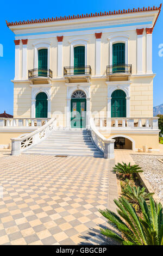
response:
<svg viewBox="0 0 163 256"><path fill-rule="evenodd" d="M86 127L86 99L71 99L71 128Z"/></svg>

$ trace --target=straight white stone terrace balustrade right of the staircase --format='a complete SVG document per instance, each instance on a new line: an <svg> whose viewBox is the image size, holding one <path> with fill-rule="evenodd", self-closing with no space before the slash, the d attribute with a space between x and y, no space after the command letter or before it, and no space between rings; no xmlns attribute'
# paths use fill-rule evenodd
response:
<svg viewBox="0 0 163 256"><path fill-rule="evenodd" d="M98 129L159 129L159 117L95 118Z"/></svg>

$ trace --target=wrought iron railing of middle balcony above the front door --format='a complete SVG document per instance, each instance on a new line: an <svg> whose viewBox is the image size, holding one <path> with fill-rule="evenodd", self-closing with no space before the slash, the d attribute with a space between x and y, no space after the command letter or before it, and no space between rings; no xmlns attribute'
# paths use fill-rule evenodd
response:
<svg viewBox="0 0 163 256"><path fill-rule="evenodd" d="M64 66L64 76L91 75L91 66Z"/></svg>

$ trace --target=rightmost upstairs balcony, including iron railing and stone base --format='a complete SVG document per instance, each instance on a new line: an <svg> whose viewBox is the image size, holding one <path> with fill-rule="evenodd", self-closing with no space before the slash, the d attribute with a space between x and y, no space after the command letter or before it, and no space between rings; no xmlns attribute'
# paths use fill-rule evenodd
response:
<svg viewBox="0 0 163 256"><path fill-rule="evenodd" d="M120 65L110 65L106 66L106 76L109 78L128 78L132 73L131 64L120 64Z"/></svg>

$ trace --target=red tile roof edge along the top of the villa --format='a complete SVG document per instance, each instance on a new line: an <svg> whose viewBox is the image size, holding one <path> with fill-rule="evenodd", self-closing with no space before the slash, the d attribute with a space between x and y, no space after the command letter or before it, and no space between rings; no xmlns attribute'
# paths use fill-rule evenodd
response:
<svg viewBox="0 0 163 256"><path fill-rule="evenodd" d="M78 14L76 16L75 15L73 15L73 16L69 15L69 16L64 16L64 17L60 16L60 17L55 17L55 18L52 17L51 19L48 18L48 19L42 19L42 20L41 19L39 19L39 20L35 19L35 20L31 20L31 21L27 20L27 21L15 21L15 22L6 21L6 23L7 23L7 26L9 27L9 26L32 24L32 23L82 19L82 18L86 18L86 17L110 16L110 15L127 14L127 13L141 13L143 11L153 11L153 10L159 10L159 14L160 14L161 5L162 4L160 4L159 7L154 6L154 7L148 7L148 8L145 8L145 7L137 8L137 9L133 8L133 9L128 9L128 10L123 9L123 10L118 10L118 11L115 11L115 10L114 11L109 11L107 13L105 11L104 13L100 12L100 13L95 13L95 14L92 14L92 13L91 14L82 14L82 15ZM159 16L159 14L158 14L158 16ZM157 16L156 20L158 19L158 16ZM155 22L156 22L156 20L155 20ZM155 23L154 23L154 25L155 25Z"/></svg>

